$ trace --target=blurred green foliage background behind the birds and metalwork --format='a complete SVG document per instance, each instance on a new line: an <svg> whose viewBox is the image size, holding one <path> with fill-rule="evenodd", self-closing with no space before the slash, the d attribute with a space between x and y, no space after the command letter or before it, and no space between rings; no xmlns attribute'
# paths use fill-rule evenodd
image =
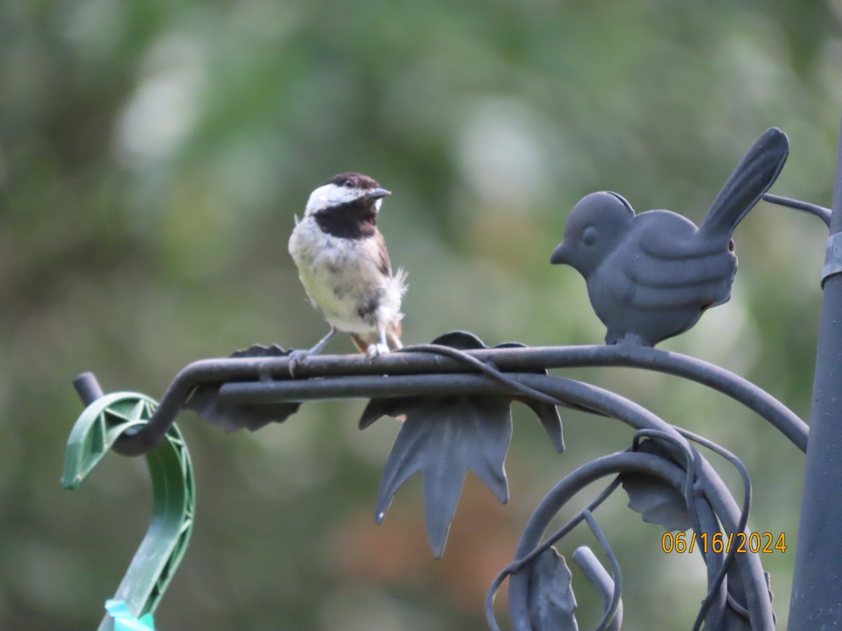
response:
<svg viewBox="0 0 842 631"><path fill-rule="evenodd" d="M0 628L93 628L146 529L143 459L111 455L61 490L76 374L157 398L194 359L321 337L286 252L312 188L355 170L392 189L381 230L408 270L405 342L466 329L489 344L600 343L583 280L548 264L568 210L608 188L699 221L770 125L792 145L775 192L829 205L840 19L839 0L0 4ZM825 235L759 204L736 233L732 300L663 348L806 418ZM783 628L802 454L700 386L570 374L743 459L749 527L790 545L763 559ZM254 434L181 416L197 522L160 628L485 628L485 590L537 502L631 437L565 412L558 456L515 410L512 501L469 475L434 561L419 480L373 524L397 424L359 432L363 405L307 404ZM700 559L663 554L663 531L622 497L598 517L621 558L626 628L689 627ZM582 543L577 531L562 552ZM578 570L574 588L587 628L598 618Z"/></svg>

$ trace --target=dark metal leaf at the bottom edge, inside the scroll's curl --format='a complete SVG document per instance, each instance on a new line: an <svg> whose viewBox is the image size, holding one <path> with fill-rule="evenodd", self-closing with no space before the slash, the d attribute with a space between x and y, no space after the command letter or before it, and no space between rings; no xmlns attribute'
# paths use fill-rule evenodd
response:
<svg viewBox="0 0 842 631"><path fill-rule="evenodd" d="M577 631L576 597L564 557L555 548L530 565L529 618L533 631Z"/></svg>

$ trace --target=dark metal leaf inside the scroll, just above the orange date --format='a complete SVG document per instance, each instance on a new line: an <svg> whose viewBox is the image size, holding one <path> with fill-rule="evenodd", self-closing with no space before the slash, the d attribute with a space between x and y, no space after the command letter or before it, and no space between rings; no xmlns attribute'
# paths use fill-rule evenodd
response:
<svg viewBox="0 0 842 631"><path fill-rule="evenodd" d="M669 459L666 450L656 441L640 443L639 451ZM660 478L641 473L626 473L620 476L623 489L629 496L629 508L639 512L644 522L658 523L667 531L688 530L693 527L685 497Z"/></svg>

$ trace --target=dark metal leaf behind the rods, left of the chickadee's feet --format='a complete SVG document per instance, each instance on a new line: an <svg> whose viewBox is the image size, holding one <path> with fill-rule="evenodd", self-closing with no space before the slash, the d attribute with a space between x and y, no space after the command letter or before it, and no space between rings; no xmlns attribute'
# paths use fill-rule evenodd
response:
<svg viewBox="0 0 842 631"><path fill-rule="evenodd" d="M266 347L255 344L253 347L232 353L232 358L243 357L285 357L286 351L277 344ZM255 432L270 422L284 422L298 411L301 403L227 403L219 399L221 384L200 385L184 407L195 411L205 421L219 425L226 432L236 432L245 427Z"/></svg>

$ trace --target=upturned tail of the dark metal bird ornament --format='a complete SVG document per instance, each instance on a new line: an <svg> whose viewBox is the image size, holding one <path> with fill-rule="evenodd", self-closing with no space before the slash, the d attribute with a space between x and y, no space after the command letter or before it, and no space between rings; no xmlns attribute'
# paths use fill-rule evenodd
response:
<svg viewBox="0 0 842 631"><path fill-rule="evenodd" d="M775 183L788 155L786 134L777 127L765 130L713 200L699 231L706 236L730 239L738 223Z"/></svg>

